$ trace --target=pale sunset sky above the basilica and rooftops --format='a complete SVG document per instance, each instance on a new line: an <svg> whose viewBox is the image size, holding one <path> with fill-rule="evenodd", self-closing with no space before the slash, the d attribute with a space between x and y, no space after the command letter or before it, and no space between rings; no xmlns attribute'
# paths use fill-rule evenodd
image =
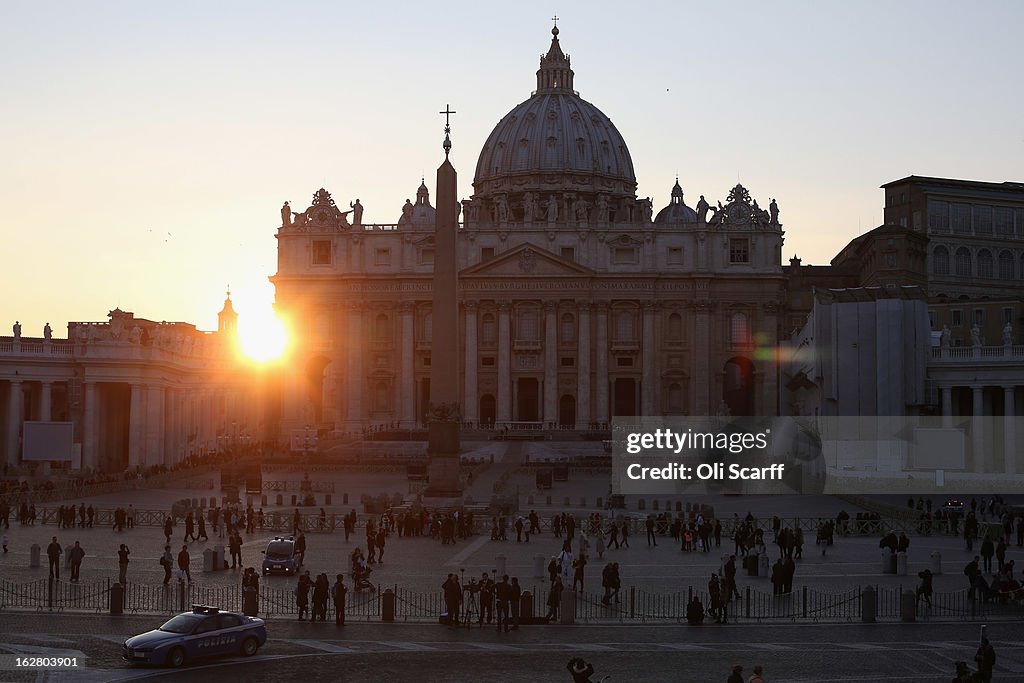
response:
<svg viewBox="0 0 1024 683"><path fill-rule="evenodd" d="M395 222L461 197L536 87L553 13L638 194L777 198L784 258L827 262L909 174L1024 180L1024 3L0 3L0 330L120 306L216 327L273 298L274 231L326 186Z"/></svg>

